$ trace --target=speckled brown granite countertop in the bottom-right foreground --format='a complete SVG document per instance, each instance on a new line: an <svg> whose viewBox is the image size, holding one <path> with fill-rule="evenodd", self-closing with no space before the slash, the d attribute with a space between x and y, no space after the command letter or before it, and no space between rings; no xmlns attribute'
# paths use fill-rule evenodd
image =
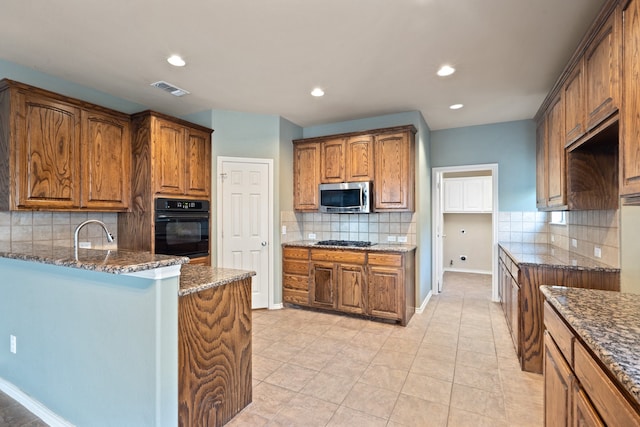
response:
<svg viewBox="0 0 640 427"><path fill-rule="evenodd" d="M640 405L640 295L562 286L540 290Z"/></svg>

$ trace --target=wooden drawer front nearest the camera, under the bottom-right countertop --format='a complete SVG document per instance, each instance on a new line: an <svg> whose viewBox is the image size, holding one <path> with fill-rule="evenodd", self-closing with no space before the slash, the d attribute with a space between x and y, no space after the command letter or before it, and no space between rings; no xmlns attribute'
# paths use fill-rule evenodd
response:
<svg viewBox="0 0 640 427"><path fill-rule="evenodd" d="M640 425L640 415L582 344L574 346L575 372L593 406L610 426Z"/></svg>

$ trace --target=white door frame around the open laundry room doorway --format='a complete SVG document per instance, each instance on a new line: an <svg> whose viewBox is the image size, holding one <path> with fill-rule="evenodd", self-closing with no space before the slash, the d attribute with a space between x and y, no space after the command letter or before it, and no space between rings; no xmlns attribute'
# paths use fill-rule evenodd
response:
<svg viewBox="0 0 640 427"><path fill-rule="evenodd" d="M431 169L431 213L433 217L432 221L432 255L431 262L433 264L433 277L432 283L434 294L442 291L442 273L444 267L442 266L442 177L445 173L451 172L476 172L476 171L491 171L491 183L492 183L492 230L493 242L491 243L492 262L491 262L491 299L493 301L499 300L498 295L498 164L487 163L482 165L465 165L465 166L447 166ZM440 289L438 289L440 287Z"/></svg>

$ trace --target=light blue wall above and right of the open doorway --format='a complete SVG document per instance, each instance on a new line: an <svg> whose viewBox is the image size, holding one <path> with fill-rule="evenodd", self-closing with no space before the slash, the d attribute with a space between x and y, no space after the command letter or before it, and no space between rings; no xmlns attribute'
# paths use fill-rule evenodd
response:
<svg viewBox="0 0 640 427"><path fill-rule="evenodd" d="M498 164L500 211L536 210L536 127L533 120L437 130L431 166Z"/></svg>

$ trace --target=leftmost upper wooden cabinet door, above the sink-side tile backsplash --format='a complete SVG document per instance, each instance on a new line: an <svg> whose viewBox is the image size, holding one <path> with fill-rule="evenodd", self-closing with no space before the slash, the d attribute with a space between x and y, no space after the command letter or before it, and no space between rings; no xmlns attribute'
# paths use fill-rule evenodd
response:
<svg viewBox="0 0 640 427"><path fill-rule="evenodd" d="M80 206L80 110L26 94L16 115L18 207Z"/></svg>

